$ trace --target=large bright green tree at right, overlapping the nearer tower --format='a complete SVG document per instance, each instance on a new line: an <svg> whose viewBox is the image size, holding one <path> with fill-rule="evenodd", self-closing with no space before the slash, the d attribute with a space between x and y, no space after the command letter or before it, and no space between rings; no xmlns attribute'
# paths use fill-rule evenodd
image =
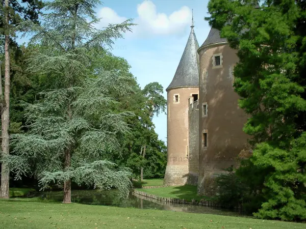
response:
<svg viewBox="0 0 306 229"><path fill-rule="evenodd" d="M306 4L211 0L210 25L238 50L235 91L250 115L253 156L238 174L262 199L261 218L306 219ZM255 170L258 178L246 171ZM259 183L261 182L261 184ZM262 190L258 189L262 186Z"/></svg>

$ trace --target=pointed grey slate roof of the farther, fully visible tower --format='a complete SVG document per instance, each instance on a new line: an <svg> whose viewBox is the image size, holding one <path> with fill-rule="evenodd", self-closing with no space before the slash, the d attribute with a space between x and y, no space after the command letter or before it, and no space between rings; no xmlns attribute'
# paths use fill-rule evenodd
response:
<svg viewBox="0 0 306 229"><path fill-rule="evenodd" d="M182 55L179 66L177 66L175 75L166 89L176 87L188 87L194 86L197 87L199 85L199 71L198 71L198 60L199 55L197 50L199 48L199 44L196 40L196 36L193 30L193 25L191 26L191 32Z"/></svg>

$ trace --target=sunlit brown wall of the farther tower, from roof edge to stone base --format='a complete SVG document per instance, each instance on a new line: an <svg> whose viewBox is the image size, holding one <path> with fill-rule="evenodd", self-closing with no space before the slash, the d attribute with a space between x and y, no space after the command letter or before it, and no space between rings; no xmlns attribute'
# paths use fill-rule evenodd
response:
<svg viewBox="0 0 306 229"><path fill-rule="evenodd" d="M188 179L188 99L198 87L172 88L167 91L167 167L165 186L184 185Z"/></svg>

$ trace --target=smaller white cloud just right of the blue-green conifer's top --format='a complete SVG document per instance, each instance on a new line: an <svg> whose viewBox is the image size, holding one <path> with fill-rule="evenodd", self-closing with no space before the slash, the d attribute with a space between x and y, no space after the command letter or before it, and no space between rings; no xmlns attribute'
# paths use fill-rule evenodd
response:
<svg viewBox="0 0 306 229"><path fill-rule="evenodd" d="M127 18L120 17L113 9L109 7L103 7L97 14L98 18L101 18L97 27L106 27L109 24L119 24L125 21Z"/></svg>

